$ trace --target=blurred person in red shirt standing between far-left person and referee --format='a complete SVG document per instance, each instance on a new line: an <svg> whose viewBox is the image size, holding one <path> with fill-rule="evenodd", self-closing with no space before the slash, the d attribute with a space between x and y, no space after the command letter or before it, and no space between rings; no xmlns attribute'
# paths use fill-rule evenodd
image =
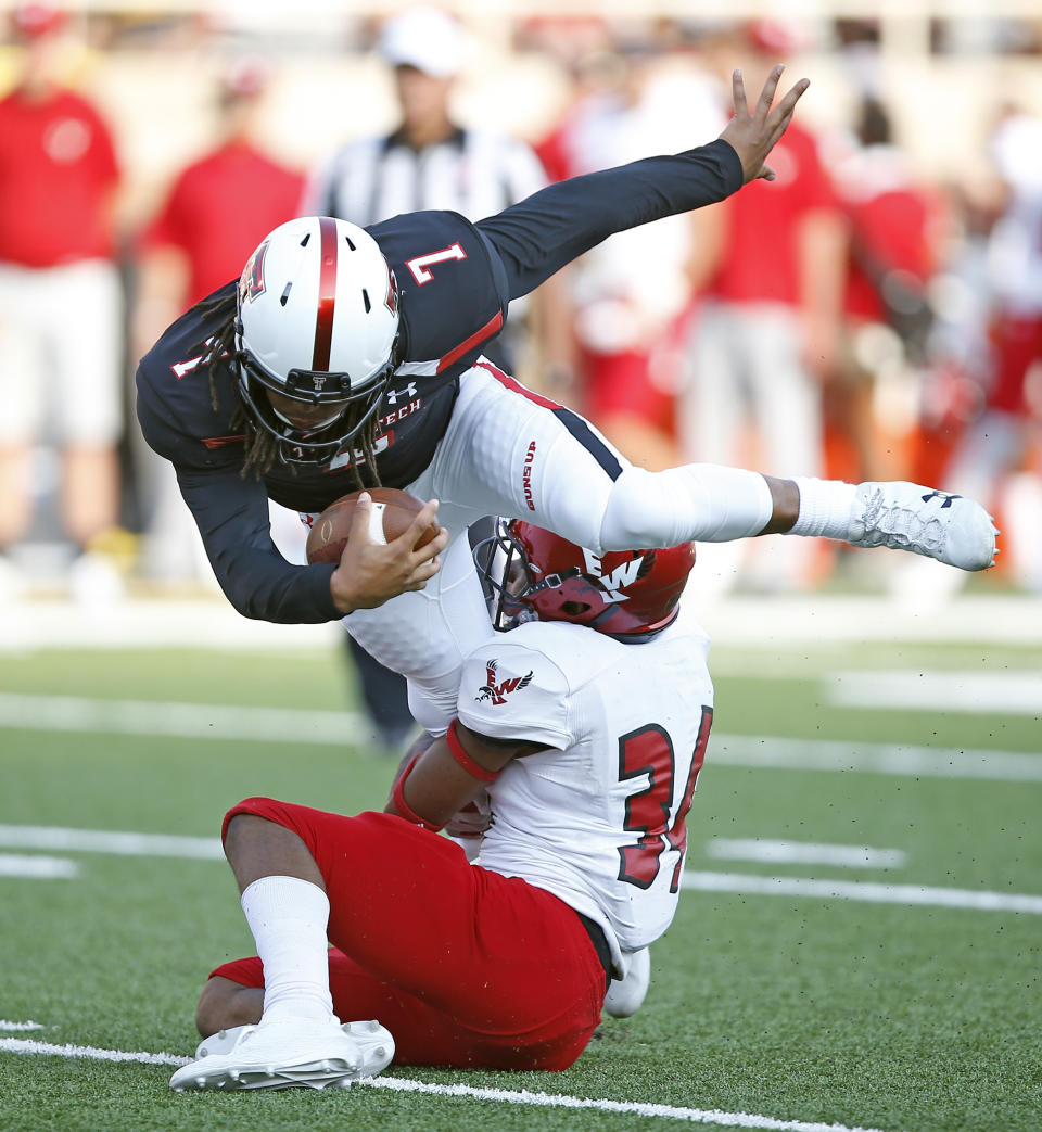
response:
<svg viewBox="0 0 1042 1132"><path fill-rule="evenodd" d="M271 68L256 57L228 60L221 69L216 144L173 178L138 240L135 357L241 271L266 232L297 215L304 175L260 142L271 79ZM147 449L142 460L148 532L144 573L166 581L194 577L202 546L172 470ZM296 516L292 525L299 526Z"/></svg>

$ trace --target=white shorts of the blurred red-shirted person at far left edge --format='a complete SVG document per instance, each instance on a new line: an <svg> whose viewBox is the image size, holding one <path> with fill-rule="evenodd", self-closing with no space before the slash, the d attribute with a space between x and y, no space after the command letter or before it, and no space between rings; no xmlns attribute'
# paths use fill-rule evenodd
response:
<svg viewBox="0 0 1042 1132"><path fill-rule="evenodd" d="M58 444L114 444L123 417L121 349L113 264L0 264L0 444L35 440L45 419Z"/></svg>

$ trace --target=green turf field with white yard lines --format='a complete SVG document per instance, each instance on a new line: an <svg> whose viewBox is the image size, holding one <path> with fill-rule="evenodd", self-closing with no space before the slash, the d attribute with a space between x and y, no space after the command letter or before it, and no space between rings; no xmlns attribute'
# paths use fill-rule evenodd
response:
<svg viewBox="0 0 1042 1132"><path fill-rule="evenodd" d="M386 1074L476 1096L375 1086L176 1096L171 1064L142 1058L189 1054L206 971L251 950L231 875L216 859L140 846L61 847L54 831L215 839L224 809L254 794L379 807L392 764L349 726L330 741L336 720L322 713L353 706L333 652L0 653L0 874L26 858L75 869L0 875L0 1129L623 1130L699 1118L1036 1132L1042 651L718 645L710 666L715 736L680 912L652 949L642 1011L607 1022L572 1070ZM892 668L947 672L948 692L900 710L836 702L842 674ZM1008 687L1019 701L974 703L967 672L994 677L985 700ZM913 756L921 771L903 772ZM888 854L859 859L851 847ZM58 1045L137 1060L40 1052ZM595 1104L532 1107L520 1090Z"/></svg>

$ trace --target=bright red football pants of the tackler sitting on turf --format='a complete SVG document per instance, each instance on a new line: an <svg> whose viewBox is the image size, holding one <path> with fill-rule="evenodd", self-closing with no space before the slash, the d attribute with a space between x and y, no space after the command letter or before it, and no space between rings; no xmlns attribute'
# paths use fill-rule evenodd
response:
<svg viewBox="0 0 1042 1132"><path fill-rule="evenodd" d="M307 844L330 897L330 983L344 1021L378 1019L395 1064L563 1070L600 1022L605 969L578 914L392 814L248 798ZM224 832L222 831L222 833ZM263 986L257 958L221 975Z"/></svg>

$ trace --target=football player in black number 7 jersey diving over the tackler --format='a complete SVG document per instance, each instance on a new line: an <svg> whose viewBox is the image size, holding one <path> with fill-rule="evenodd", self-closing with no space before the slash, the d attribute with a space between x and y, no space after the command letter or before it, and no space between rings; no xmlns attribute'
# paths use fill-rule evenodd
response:
<svg viewBox="0 0 1042 1132"><path fill-rule="evenodd" d="M279 623L350 615L349 632L409 677L413 714L437 731L475 646L460 626L477 625L482 603L459 535L484 515L524 517L601 550L785 532L990 565L990 516L970 500L709 465L652 474L479 361L510 300L600 240L772 178L766 157L808 86L774 105L782 71L752 112L735 72L734 117L716 142L553 185L477 224L451 212L367 230L291 221L238 283L178 319L138 366L137 413L173 463L233 606ZM315 515L377 483L428 500L415 533L437 511L439 537L420 550L408 534L377 546L362 503L339 565L292 566L279 554L268 498Z"/></svg>

